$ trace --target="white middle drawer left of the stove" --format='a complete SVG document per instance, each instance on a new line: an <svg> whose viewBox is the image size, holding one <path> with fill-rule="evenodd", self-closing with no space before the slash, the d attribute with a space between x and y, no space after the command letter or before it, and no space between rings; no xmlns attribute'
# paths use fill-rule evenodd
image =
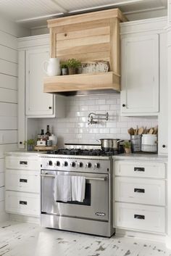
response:
<svg viewBox="0 0 171 256"><path fill-rule="evenodd" d="M40 193L40 173L33 170L6 170L6 190Z"/></svg>

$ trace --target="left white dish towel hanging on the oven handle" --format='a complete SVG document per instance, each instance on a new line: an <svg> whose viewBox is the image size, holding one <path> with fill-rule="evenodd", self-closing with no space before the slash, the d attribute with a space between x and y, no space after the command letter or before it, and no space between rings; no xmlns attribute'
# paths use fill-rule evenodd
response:
<svg viewBox="0 0 171 256"><path fill-rule="evenodd" d="M54 200L71 201L71 177L56 175L54 180Z"/></svg>

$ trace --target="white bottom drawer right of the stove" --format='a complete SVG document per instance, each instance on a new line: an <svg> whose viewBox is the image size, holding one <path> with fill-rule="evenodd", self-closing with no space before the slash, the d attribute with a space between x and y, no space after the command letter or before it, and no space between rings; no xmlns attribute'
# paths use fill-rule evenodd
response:
<svg viewBox="0 0 171 256"><path fill-rule="evenodd" d="M115 203L115 227L165 232L164 207Z"/></svg>

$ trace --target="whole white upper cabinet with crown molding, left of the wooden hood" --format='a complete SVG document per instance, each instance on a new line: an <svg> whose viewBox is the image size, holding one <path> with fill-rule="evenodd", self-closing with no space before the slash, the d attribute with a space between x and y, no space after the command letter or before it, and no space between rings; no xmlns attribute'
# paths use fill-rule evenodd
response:
<svg viewBox="0 0 171 256"><path fill-rule="evenodd" d="M28 120L37 133L37 117L64 117L65 97L43 93L43 62L49 59L49 35L18 39L18 147L25 148ZM33 125L34 121L36 125ZM37 123L36 123L37 122ZM35 131L34 131L35 130ZM32 138L32 137L31 137Z"/></svg>

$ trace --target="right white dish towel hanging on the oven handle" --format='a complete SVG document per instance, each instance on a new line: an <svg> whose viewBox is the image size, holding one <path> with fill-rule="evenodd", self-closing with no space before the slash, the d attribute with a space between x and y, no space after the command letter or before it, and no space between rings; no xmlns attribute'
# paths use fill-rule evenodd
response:
<svg viewBox="0 0 171 256"><path fill-rule="evenodd" d="M71 178L72 201L83 202L86 191L86 178L83 176L72 176Z"/></svg>

